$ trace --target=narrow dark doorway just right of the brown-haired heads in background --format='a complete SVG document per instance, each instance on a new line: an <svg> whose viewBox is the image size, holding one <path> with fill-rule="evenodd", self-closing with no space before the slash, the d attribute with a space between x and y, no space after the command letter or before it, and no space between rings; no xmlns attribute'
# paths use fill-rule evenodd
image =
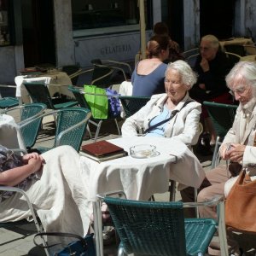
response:
<svg viewBox="0 0 256 256"><path fill-rule="evenodd" d="M183 1L172 0L168 1L166 24L169 27L169 32L172 40L176 41L183 48Z"/></svg>

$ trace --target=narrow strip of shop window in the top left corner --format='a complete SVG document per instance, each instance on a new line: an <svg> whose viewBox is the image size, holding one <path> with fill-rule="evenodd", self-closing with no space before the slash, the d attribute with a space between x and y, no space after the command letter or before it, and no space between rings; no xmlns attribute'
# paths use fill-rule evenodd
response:
<svg viewBox="0 0 256 256"><path fill-rule="evenodd" d="M8 0L0 0L0 46L10 44Z"/></svg>

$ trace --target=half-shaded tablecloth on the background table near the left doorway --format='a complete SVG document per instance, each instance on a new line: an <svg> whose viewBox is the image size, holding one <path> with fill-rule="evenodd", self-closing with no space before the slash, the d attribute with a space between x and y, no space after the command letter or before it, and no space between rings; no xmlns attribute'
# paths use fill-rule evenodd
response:
<svg viewBox="0 0 256 256"><path fill-rule="evenodd" d="M65 72L45 73L44 76L38 76L36 78L27 78L26 76L15 77L15 84L17 85L16 97L20 98L21 102L29 103L31 101L23 85L24 82L43 82L48 85L50 96L58 92L71 98L74 97L73 93L68 90L68 85L72 85L72 81Z"/></svg>

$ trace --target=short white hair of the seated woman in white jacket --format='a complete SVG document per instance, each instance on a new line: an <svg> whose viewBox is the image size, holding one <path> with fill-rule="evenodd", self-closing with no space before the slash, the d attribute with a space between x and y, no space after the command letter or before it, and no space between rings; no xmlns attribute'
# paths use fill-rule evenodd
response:
<svg viewBox="0 0 256 256"><path fill-rule="evenodd" d="M174 61L170 62L166 68L166 73L170 69L175 69L181 75L182 83L192 87L197 81L197 74L192 70L186 61ZM165 73L165 75L166 75Z"/></svg>

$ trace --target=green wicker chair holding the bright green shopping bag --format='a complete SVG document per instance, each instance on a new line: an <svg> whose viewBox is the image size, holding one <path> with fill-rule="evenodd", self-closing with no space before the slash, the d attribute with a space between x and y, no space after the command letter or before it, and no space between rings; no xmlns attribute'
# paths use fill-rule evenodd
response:
<svg viewBox="0 0 256 256"><path fill-rule="evenodd" d="M86 102L86 99L84 97L84 93L83 91L77 89L77 88L74 88L73 86L68 86L68 90L71 90L73 92L73 95L75 96L76 98L76 101L79 102L79 106L82 107L82 108L88 108L90 109L90 106L89 104ZM103 120L109 120L109 119L113 119L114 122L115 122L115 125L117 127L117 131L119 133L119 135L121 134L120 133L120 129L119 129L119 124L118 124L118 121L116 118L114 117L108 117L108 119L95 119L91 116L90 120L89 120L89 123L91 125L95 125L96 126L96 134L95 134L95 137L94 137L94 141L96 142L98 136L99 136L99 133L100 133L100 130L101 130L101 126L102 126L102 122Z"/></svg>

